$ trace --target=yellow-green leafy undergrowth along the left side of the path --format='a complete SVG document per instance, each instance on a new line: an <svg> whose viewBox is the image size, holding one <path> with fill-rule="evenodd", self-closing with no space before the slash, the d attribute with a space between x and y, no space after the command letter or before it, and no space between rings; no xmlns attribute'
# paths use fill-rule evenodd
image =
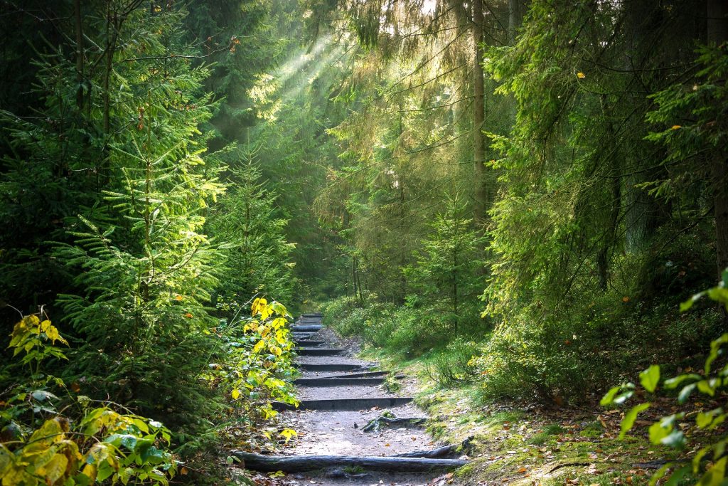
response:
<svg viewBox="0 0 728 486"><path fill-rule="evenodd" d="M239 315L203 331L207 361L176 369L184 373L173 384L187 394L186 403L149 409L172 430L130 412L149 406L150 398L142 404L93 399L105 383L89 383L63 363L72 350L58 348L57 342L68 346L68 341L47 315L23 317L9 345L17 357L6 368L12 385L0 395L2 484L89 485L108 479L166 485L175 474L194 484L218 482L227 475L219 457L223 444L251 447L265 440L263 424L276 415L270 401L296 404L289 317L280 303L255 299L250 317ZM164 393L160 385L155 390ZM189 396L191 391L197 394ZM195 420L175 415L180 409L190 410ZM267 439L286 438L288 432Z"/></svg>

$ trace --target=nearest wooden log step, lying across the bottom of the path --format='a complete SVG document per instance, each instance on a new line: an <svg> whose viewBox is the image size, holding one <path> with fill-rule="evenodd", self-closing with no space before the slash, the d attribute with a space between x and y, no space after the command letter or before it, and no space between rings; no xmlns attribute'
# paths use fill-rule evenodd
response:
<svg viewBox="0 0 728 486"><path fill-rule="evenodd" d="M348 455L259 455L234 451L245 469L261 472L305 472L328 468L361 468L370 471L422 472L435 469L456 469L468 461L462 459L421 459Z"/></svg>

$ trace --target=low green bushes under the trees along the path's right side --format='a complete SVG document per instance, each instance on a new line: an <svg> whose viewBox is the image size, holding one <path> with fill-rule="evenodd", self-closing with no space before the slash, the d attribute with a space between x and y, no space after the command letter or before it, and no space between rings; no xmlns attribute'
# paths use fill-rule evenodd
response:
<svg viewBox="0 0 728 486"><path fill-rule="evenodd" d="M594 404L613 383L633 379L651 363L671 371L699 364L702 350L721 332L723 314L708 305L680 313L686 295L640 302L618 291L599 292L585 296L590 302L581 309L572 304L570 314L541 316L539 325L527 320L537 314L524 311L523 321L495 327L480 318L480 302L471 302L457 330L435 305L373 299L361 305L344 297L323 308L325 322L341 334L360 336L401 361L424 359L444 387L477 383L488 401Z"/></svg>

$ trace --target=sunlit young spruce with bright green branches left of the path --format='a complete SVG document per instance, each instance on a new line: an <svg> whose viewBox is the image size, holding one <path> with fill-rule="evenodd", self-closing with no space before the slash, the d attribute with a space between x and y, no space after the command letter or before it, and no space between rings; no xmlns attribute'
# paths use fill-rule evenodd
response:
<svg viewBox="0 0 728 486"><path fill-rule="evenodd" d="M204 401L196 398L202 391L195 377L205 367L200 350L209 346L202 331L213 322L205 302L217 283L215 254L202 229L223 186L195 138L196 119L210 116L204 101L192 110L195 118L175 121L162 100L149 99L146 125L111 144L122 186L104 192L107 208L93 213L96 222L79 216L70 231L75 245L55 251L84 291L58 297L65 319L86 337L78 372L103 377L93 380L100 384L95 393L147 415L165 409L170 423L197 422ZM157 125L167 129L153 130Z"/></svg>

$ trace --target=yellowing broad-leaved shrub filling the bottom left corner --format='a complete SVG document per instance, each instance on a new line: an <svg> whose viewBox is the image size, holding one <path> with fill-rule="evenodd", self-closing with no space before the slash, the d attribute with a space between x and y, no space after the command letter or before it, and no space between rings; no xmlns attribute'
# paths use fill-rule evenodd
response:
<svg viewBox="0 0 728 486"><path fill-rule="evenodd" d="M15 324L9 347L15 356L24 354L20 363L35 362L31 385L42 376L44 358L65 358L55 341L67 344L47 318L28 315ZM79 409L79 419L69 420L55 411L53 393L23 387L18 383L0 397L2 485L168 485L174 477L177 463L166 449L171 434L161 423L120 414L111 404L90 407L87 396L70 397L73 407L66 408Z"/></svg>

